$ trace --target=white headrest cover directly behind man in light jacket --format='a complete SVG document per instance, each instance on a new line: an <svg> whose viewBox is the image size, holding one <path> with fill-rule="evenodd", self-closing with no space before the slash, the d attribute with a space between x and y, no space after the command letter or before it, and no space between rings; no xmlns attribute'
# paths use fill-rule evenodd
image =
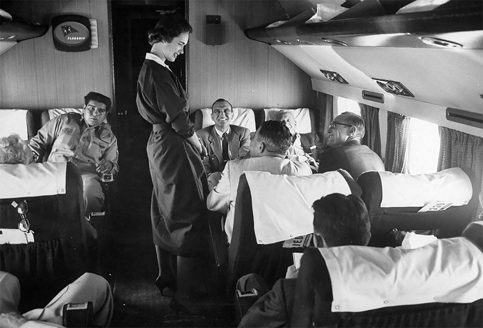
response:
<svg viewBox="0 0 483 328"><path fill-rule="evenodd" d="M271 244L313 233L314 201L332 193L351 193L344 177L337 171L309 176L246 171L245 176L252 195L258 244Z"/></svg>

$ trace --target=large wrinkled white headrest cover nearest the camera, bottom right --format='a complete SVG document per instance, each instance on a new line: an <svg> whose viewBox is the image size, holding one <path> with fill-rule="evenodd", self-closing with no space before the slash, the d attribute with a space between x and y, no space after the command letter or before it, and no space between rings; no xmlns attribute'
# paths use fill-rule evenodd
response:
<svg viewBox="0 0 483 328"><path fill-rule="evenodd" d="M332 283L333 312L424 303L471 303L483 297L483 253L465 237L404 250L321 248Z"/></svg>

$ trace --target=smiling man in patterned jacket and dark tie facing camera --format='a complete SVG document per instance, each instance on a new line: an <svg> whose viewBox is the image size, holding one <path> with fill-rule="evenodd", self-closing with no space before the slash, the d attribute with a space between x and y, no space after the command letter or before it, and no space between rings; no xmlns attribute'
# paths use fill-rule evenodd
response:
<svg viewBox="0 0 483 328"><path fill-rule="evenodd" d="M223 171L226 162L241 158L250 151L250 130L230 125L233 107L228 101L217 99L211 106L211 118L215 125L196 132L208 150L208 156L203 159L208 176Z"/></svg>

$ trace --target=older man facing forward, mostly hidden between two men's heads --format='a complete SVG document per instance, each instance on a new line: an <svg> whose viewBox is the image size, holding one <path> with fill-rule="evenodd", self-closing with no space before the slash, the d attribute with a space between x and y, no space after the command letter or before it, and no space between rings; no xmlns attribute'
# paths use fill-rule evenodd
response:
<svg viewBox="0 0 483 328"><path fill-rule="evenodd" d="M291 145L287 156L290 160L308 162L310 165L319 167L316 162L317 155L322 151L322 144L317 134L300 134L295 131L297 121L292 110L282 109L277 113L276 121L282 122L292 136Z"/></svg>

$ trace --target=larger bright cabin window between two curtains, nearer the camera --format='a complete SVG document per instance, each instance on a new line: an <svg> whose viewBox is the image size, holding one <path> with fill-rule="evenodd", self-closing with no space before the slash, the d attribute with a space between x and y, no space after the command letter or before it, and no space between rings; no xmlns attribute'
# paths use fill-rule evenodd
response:
<svg viewBox="0 0 483 328"><path fill-rule="evenodd" d="M436 172L440 154L438 125L411 117L409 123L409 174Z"/></svg>

